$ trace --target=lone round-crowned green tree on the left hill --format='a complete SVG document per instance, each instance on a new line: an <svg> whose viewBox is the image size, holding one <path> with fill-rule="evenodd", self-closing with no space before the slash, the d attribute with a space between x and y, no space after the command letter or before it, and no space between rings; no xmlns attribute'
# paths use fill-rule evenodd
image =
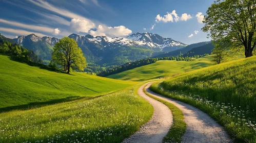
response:
<svg viewBox="0 0 256 143"><path fill-rule="evenodd" d="M60 39L54 45L52 62L61 65L68 74L70 73L70 67L84 70L87 66L81 48L78 47L74 39L69 37Z"/></svg>

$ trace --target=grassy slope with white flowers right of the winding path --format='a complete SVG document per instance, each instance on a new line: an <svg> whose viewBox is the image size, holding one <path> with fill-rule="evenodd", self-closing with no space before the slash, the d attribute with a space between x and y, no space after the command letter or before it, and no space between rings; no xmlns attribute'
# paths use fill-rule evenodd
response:
<svg viewBox="0 0 256 143"><path fill-rule="evenodd" d="M236 142L256 142L256 57L154 83L151 90L191 104L223 125Z"/></svg>

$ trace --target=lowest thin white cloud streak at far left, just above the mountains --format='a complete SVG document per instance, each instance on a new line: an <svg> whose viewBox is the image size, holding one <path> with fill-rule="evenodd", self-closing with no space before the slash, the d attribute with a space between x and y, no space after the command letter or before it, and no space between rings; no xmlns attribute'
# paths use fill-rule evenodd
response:
<svg viewBox="0 0 256 143"><path fill-rule="evenodd" d="M13 33L13 34L17 34L17 35L29 35L29 34L33 33L36 36L40 36L40 37L44 37L44 36L50 37L49 35L45 35L45 34L42 34L42 33L36 33L36 32L31 32L31 31L26 31L26 30L17 30L17 29L12 29L12 28L0 27L0 31L4 31L4 32L7 32L7 33Z"/></svg>

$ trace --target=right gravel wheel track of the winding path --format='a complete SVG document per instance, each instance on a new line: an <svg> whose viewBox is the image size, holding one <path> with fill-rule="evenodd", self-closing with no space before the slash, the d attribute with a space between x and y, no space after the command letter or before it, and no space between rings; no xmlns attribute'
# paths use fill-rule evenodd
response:
<svg viewBox="0 0 256 143"><path fill-rule="evenodd" d="M209 115L191 105L154 93L149 90L151 84L149 83L145 87L148 93L170 102L182 110L187 124L182 142L232 142L223 127L217 124Z"/></svg>

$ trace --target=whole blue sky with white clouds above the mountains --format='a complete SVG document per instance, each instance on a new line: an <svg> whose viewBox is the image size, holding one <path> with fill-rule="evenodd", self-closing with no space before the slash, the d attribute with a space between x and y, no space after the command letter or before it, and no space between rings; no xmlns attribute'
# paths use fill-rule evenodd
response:
<svg viewBox="0 0 256 143"><path fill-rule="evenodd" d="M127 37L150 32L186 44L209 41L201 31L214 0L0 0L0 33Z"/></svg>

